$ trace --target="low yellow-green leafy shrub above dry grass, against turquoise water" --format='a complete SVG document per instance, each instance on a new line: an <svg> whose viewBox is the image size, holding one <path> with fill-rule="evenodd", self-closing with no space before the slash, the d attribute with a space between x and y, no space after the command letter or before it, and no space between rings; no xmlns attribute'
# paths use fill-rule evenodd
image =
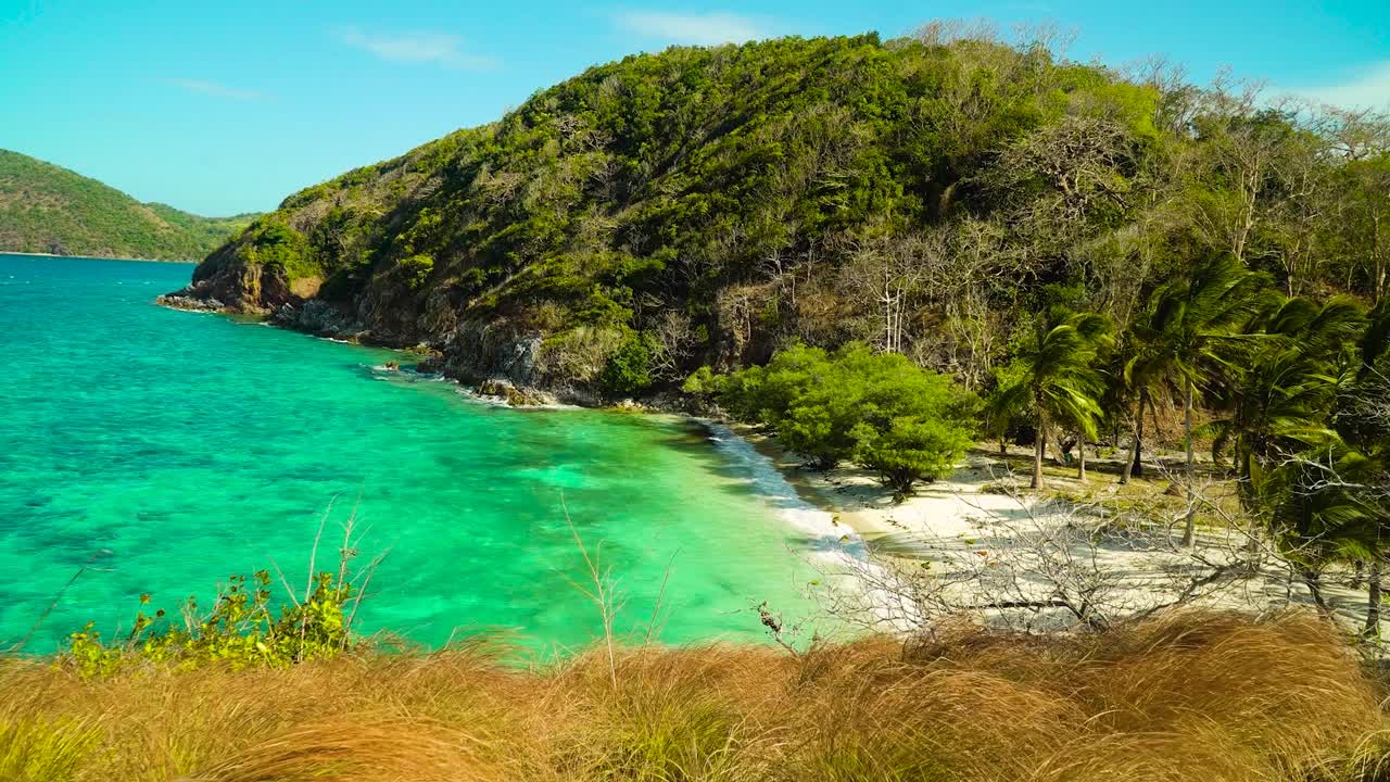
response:
<svg viewBox="0 0 1390 782"><path fill-rule="evenodd" d="M352 644L346 611L356 605L357 590L350 583L321 572L303 600L291 598L278 614L270 587L267 570L257 572L249 584L246 576L232 576L218 587L206 615L199 614L195 597L183 603L177 619L164 609L146 614L142 608L129 635L113 641L103 641L88 623L70 636L58 662L86 676L140 664L285 667L331 658ZM142 605L149 601L140 596Z"/></svg>

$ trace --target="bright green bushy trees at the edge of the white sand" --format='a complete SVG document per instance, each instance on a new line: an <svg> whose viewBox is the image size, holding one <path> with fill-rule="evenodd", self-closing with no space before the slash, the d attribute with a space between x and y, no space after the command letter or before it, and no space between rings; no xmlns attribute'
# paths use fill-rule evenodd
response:
<svg viewBox="0 0 1390 782"><path fill-rule="evenodd" d="M687 387L771 426L788 448L821 466L853 458L899 493L949 473L973 441L973 394L906 356L862 344L834 353L794 345L766 367L723 377L702 369Z"/></svg>

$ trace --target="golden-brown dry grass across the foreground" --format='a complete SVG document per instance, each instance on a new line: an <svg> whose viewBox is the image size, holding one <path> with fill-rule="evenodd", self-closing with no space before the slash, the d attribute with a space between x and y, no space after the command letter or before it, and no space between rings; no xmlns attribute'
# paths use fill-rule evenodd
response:
<svg viewBox="0 0 1390 782"><path fill-rule="evenodd" d="M616 685L614 685L616 671ZM1375 779L1376 686L1316 619L960 629L791 657L480 648L83 680L0 665L0 779Z"/></svg>

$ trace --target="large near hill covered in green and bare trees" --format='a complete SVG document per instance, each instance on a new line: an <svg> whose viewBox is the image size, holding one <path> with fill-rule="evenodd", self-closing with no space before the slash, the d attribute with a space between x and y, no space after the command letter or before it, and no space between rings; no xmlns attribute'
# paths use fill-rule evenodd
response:
<svg viewBox="0 0 1390 782"><path fill-rule="evenodd" d="M1383 295L1383 127L1269 106L933 28L677 47L289 196L175 303L585 394L852 340L979 387L1026 314L1125 327L1213 257Z"/></svg>

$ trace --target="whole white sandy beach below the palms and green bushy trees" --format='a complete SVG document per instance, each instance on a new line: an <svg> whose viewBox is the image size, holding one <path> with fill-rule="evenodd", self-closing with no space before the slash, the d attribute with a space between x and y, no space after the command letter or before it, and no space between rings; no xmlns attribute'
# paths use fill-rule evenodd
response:
<svg viewBox="0 0 1390 782"><path fill-rule="evenodd" d="M1012 603L1061 597L1074 607L1084 596L1108 618L1170 603L1251 614L1314 608L1309 590L1287 566L1265 557L1257 572L1240 569L1250 557L1250 537L1243 533L1207 519L1197 545L1180 547L1182 498L1173 497L1166 476L1119 487L1115 474L1093 472L1083 484L1069 468L1070 477L1049 474L1048 491L1036 494L1019 469L1022 452L1005 458L974 449L948 479L922 484L903 500L862 468L812 469L773 437L746 426L734 431L770 459L803 501L863 540L863 559L840 572L870 596L860 608L895 625L910 623L922 611L908 603L923 600L927 562L934 577L952 586L926 600L944 604L979 607L999 603L1002 594ZM1077 495L1086 500L1068 500ZM1136 498L1144 497L1168 500L1166 509L1133 511ZM1154 513L1161 523L1152 523ZM1141 515L1150 523L1136 522ZM1366 589L1354 582L1350 570L1333 570L1320 584L1326 605L1347 629L1359 629L1366 612ZM1066 619L1068 609L1037 614Z"/></svg>

